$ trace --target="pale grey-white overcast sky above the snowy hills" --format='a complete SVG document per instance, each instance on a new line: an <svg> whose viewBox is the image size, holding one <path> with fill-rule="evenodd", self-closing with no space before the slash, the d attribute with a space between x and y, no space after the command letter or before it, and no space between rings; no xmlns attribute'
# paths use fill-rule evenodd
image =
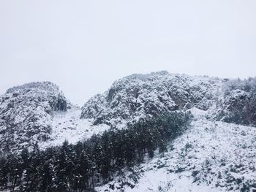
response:
<svg viewBox="0 0 256 192"><path fill-rule="evenodd" d="M132 73L255 77L255 10L255 0L0 0L0 94L50 80L82 105Z"/></svg>

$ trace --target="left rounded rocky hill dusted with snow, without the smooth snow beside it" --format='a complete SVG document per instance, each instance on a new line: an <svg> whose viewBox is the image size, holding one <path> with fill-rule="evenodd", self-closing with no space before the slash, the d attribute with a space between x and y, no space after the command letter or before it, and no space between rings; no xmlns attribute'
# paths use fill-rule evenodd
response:
<svg viewBox="0 0 256 192"><path fill-rule="evenodd" d="M53 111L67 111L68 101L52 82L31 82L0 96L1 150L17 150L45 141Z"/></svg>

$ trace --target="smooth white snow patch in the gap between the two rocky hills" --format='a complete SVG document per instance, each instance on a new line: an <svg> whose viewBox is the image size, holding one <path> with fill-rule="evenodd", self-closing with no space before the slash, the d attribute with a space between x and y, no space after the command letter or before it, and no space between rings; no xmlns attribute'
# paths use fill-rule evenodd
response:
<svg viewBox="0 0 256 192"><path fill-rule="evenodd" d="M80 109L74 108L67 112L56 112L53 115L52 133L50 139L39 143L39 147L44 149L50 146L61 145L65 140L75 144L83 139L90 138L93 134L100 134L110 128L105 124L93 126L91 120L80 119Z"/></svg>

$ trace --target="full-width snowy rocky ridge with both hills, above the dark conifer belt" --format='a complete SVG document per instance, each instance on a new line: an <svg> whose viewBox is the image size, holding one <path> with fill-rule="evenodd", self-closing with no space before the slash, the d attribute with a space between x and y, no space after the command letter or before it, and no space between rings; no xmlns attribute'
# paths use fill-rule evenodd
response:
<svg viewBox="0 0 256 192"><path fill-rule="evenodd" d="M113 82L108 91L93 96L81 109L52 82L31 82L0 96L0 148L15 151L36 143L44 148L65 139L74 143L110 126L121 128L146 116L193 107L207 110L208 117L233 122L250 106L249 118L238 123L255 124L256 107L248 104L256 100L253 91L248 93L254 80L246 85L233 82L236 88L230 90L230 80L217 77L165 71L132 74Z"/></svg>

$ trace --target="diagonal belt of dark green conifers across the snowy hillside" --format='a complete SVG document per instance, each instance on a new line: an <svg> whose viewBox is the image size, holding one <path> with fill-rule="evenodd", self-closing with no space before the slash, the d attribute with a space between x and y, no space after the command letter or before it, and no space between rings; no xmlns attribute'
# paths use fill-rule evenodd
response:
<svg viewBox="0 0 256 192"><path fill-rule="evenodd" d="M0 158L0 189L11 191L92 191L122 169L144 161L145 155L164 153L187 128L191 115L172 112L139 120L125 129L110 129L85 142Z"/></svg>

